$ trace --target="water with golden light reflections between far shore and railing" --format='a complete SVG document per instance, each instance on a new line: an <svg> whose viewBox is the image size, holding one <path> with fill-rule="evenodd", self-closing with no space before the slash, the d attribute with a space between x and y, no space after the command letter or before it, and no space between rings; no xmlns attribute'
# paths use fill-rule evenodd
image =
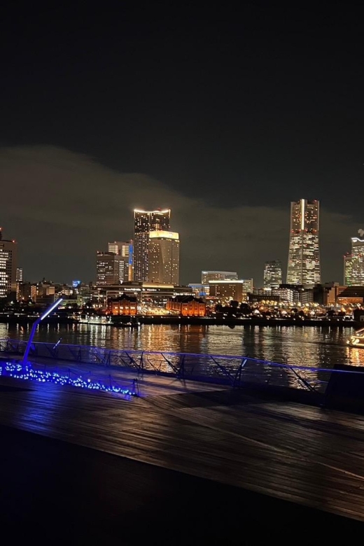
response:
<svg viewBox="0 0 364 546"><path fill-rule="evenodd" d="M30 326L0 324L0 337L27 339ZM351 349L351 328L142 325L139 330L97 325L44 325L35 341L138 349L251 356L291 365L364 365L364 349Z"/></svg>

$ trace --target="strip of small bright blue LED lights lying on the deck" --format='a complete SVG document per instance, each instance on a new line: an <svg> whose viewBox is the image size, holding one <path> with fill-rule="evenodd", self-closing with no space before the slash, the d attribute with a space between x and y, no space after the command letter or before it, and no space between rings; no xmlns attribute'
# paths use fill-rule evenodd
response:
<svg viewBox="0 0 364 546"><path fill-rule="evenodd" d="M101 381L92 379L83 379L80 375L71 377L62 375L58 372L43 372L42 370L34 370L31 364L5 362L0 363L0 376L14 377L14 379L25 379L27 381L38 381L40 383L52 383L56 385L69 385L80 388L88 388L90 391L102 391L106 393L117 393L123 395L137 395L134 386L133 389L121 388L116 385L105 385ZM134 385L134 384L133 384Z"/></svg>

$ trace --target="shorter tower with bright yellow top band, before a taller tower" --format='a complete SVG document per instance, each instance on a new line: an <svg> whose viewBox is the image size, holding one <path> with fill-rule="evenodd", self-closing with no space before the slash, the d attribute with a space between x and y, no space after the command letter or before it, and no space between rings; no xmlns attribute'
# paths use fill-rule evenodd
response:
<svg viewBox="0 0 364 546"><path fill-rule="evenodd" d="M179 284L179 234L172 231L149 232L148 281Z"/></svg>

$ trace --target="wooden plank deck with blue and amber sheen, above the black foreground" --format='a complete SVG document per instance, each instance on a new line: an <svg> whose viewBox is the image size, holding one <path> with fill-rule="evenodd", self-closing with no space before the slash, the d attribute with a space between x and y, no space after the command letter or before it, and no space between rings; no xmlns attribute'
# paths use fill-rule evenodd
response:
<svg viewBox="0 0 364 546"><path fill-rule="evenodd" d="M364 416L147 377L148 395L0 379L0 425L364 521Z"/></svg>

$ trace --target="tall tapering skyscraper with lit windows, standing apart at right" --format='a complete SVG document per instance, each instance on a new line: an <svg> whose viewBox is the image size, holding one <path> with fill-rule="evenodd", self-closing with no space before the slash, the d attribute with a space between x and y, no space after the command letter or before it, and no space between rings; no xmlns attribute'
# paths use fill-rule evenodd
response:
<svg viewBox="0 0 364 546"><path fill-rule="evenodd" d="M318 201L300 199L290 203L290 239L287 284L321 283Z"/></svg>

